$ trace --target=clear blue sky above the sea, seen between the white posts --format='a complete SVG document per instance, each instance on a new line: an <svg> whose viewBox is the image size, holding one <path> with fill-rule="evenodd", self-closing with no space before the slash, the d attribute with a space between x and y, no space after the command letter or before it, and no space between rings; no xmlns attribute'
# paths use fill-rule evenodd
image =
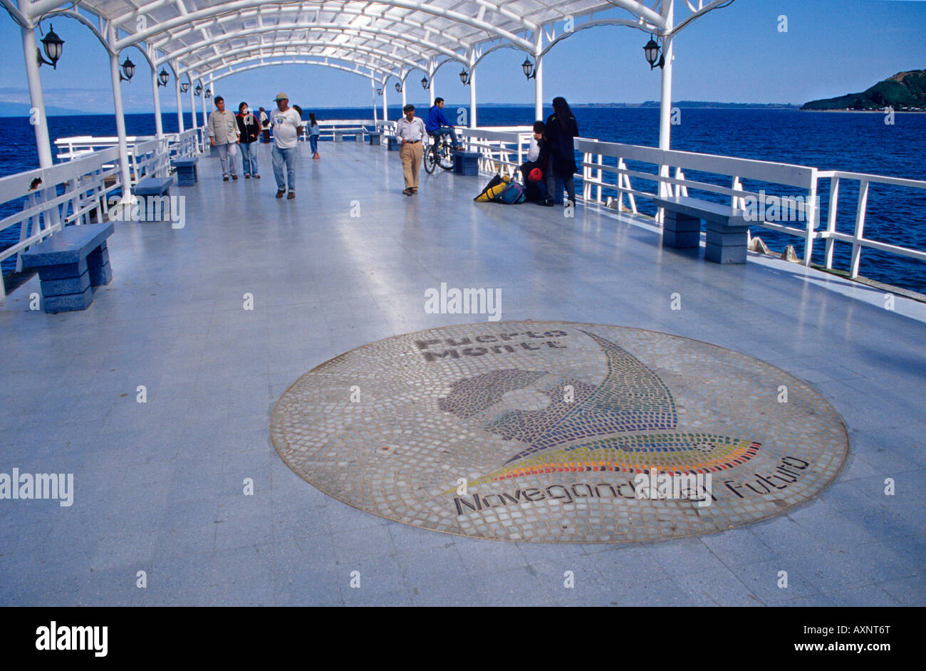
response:
<svg viewBox="0 0 926 671"><path fill-rule="evenodd" d="M676 3L682 6L682 0ZM787 33L777 30L782 14L788 18ZM66 44L58 68L42 68L45 104L111 111L109 66L102 45L77 21L59 18L54 24ZM924 34L926 2L920 0L735 0L694 21L678 36L672 97L804 103L863 91L895 72L926 68ZM571 103L657 100L659 74L644 61L646 39L641 31L604 27L577 32L558 43L544 61L547 102L560 94ZM0 106L28 103L19 26L3 10L0 40L6 45ZM125 56L139 65L134 80L123 85L126 111L151 111L147 64L134 49L123 52L120 60ZM513 49L487 56L477 70L479 102L532 103L533 83L521 73L523 59L524 54ZM469 90L457 77L459 69L448 64L436 77L437 93L451 104L469 102ZM418 83L420 73L409 79L409 101L426 100ZM217 93L235 106L241 100L267 106L281 90L302 106L371 104L369 80L314 66L251 70L217 86ZM398 93L389 91L392 104L397 104ZM172 79L161 92L163 109L176 109Z"/></svg>

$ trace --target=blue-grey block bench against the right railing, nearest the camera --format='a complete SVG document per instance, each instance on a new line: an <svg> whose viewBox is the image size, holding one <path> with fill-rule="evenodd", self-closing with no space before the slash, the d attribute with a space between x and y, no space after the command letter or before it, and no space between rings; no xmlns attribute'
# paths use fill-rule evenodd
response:
<svg viewBox="0 0 926 671"><path fill-rule="evenodd" d="M746 262L749 223L742 210L687 196L654 197L653 203L665 209L663 245L697 247L701 242L701 220L704 219L707 226L705 259L714 263Z"/></svg>

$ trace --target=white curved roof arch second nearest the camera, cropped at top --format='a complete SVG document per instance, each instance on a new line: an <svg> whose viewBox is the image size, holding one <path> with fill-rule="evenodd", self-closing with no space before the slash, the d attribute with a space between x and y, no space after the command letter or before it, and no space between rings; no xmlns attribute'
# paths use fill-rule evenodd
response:
<svg viewBox="0 0 926 671"><path fill-rule="evenodd" d="M619 0L618 0L619 1ZM225 3L219 6L209 6L203 9L199 9L194 12L190 12L186 15L175 17L173 19L168 19L166 21L158 22L155 26L147 28L144 31L139 31L131 34L128 37L124 37L119 40L114 46L123 48L124 46L130 43L144 42L155 35L158 35L162 32L169 31L171 28L182 25L184 23L189 23L191 21L196 21L198 19L210 19L214 17L223 16L225 14L235 14L240 9L250 8L252 6L263 6L263 7L273 7L273 6L282 6L282 5L291 5L299 4L301 5L305 0L280 0L278 2L268 2L268 0L235 0L231 3ZM41 3L37 3L39 5ZM511 31L505 31L499 28L496 28L491 23L488 23L482 19L468 17L465 14L460 14L451 9L443 9L441 7L432 7L428 5L422 5L416 0L380 0L380 2L375 4L396 6L405 9L411 9L413 11L419 11L424 14L432 14L436 17L441 17L444 19L450 19L457 21L458 23L463 23L469 25L472 28L475 28L480 31L486 31L490 34L495 34L501 39L507 39L511 43L520 44L525 49L531 49L532 44L524 40L524 38L519 37ZM129 16L142 16L146 11L145 7L140 7L138 11L131 12ZM650 10L651 11L651 10ZM520 21L525 29L529 31L536 30L536 26L532 23L527 23Z"/></svg>

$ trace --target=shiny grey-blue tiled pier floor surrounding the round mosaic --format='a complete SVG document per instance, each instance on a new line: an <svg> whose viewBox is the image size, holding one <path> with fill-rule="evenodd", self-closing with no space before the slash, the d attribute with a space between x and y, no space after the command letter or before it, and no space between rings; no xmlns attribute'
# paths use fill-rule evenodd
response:
<svg viewBox="0 0 926 671"><path fill-rule="evenodd" d="M407 198L396 153L321 153L302 148L294 201L273 198L266 147L259 181L223 183L204 157L174 190L185 228L119 224L88 310L31 312L38 280L0 306L0 472L75 477L69 508L0 501L0 603L926 603L926 306L888 311L882 292L752 255L707 264L582 206L474 205L484 177L422 174ZM473 321L425 314L442 281L501 288L503 319L654 329L782 367L845 418L845 468L787 515L644 544L470 540L326 497L274 452L273 404L336 354Z"/></svg>

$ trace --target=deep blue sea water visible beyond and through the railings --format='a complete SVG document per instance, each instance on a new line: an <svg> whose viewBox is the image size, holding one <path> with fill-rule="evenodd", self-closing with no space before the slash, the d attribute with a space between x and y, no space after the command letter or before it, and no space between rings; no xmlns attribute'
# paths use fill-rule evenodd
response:
<svg viewBox="0 0 926 671"><path fill-rule="evenodd" d="M305 114L309 106L303 106ZM448 106L448 118L456 119L457 106ZM582 137L607 142L643 144L658 143L658 110L656 108L581 107L574 110ZM544 115L550 110L544 111ZM320 120L334 118L371 118L369 107L319 109ZM380 109L382 116L382 108ZM389 109L389 118L399 118L398 106ZM480 126L526 125L533 120L533 108L524 106L485 106L478 110ZM186 128L191 118L187 114ZM814 113L795 110L765 109L694 109L683 108L681 124L672 127L672 148L753 158L758 160L794 163L823 170L839 169L877 175L926 180L926 114L896 114L895 123L884 123L883 114L868 113ZM163 115L164 130L177 130L176 113ZM154 133L151 114L126 116L126 130L130 135ZM112 115L72 116L48 118L49 135L56 138L72 135L112 136L116 122ZM6 118L0 124L0 143L6 151L0 155L0 177L36 168L34 134L28 118ZM577 156L577 159L579 156ZM642 164L628 164L628 168L652 172ZM687 172L686 177L729 185L716 176ZM758 191L765 185L744 181L744 187ZM643 182L641 188L649 190L652 183ZM776 193L769 185L769 193ZM824 209L829 200L829 180L820 182L820 200ZM844 181L840 187L837 230L852 233L857 207L857 183ZM782 193L781 188L777 193ZM783 193L782 193L783 194ZM699 197L710 198L705 192ZM719 202L722 196L713 196ZM638 203L647 211L646 205ZM0 216L8 214L0 213ZM792 224L800 227L800 224ZM794 244L797 254L803 255L800 238L777 231L754 229L773 250L781 251L786 244ZM7 235L9 233L7 232ZM865 235L873 240L926 250L926 191L873 184L870 188ZM0 238L0 245L9 244ZM822 242L814 248L813 260L823 263ZM834 247L833 266L847 269L851 246L837 242ZM4 264L8 272L8 264ZM880 280L919 292L926 292L926 267L920 261L891 255L878 250L864 249L860 272L866 277Z"/></svg>

